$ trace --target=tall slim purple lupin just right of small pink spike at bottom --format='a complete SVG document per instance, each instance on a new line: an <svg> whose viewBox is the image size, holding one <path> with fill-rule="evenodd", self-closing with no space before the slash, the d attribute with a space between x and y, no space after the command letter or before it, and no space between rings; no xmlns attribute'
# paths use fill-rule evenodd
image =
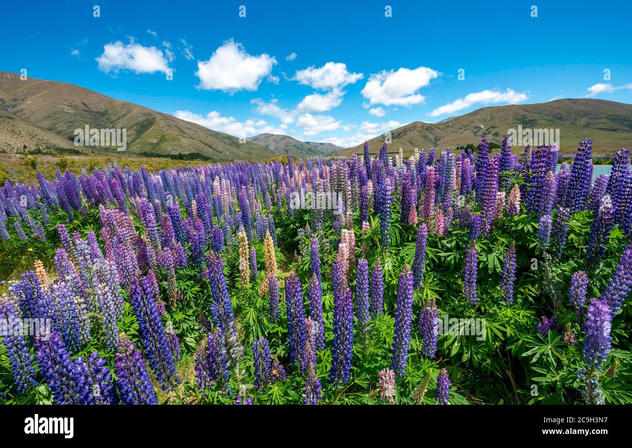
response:
<svg viewBox="0 0 632 448"><path fill-rule="evenodd" d="M413 313L413 292L415 279L410 266L404 266L399 275L397 306L395 308L395 337L391 353L391 369L401 378L408 363L410 327Z"/></svg>

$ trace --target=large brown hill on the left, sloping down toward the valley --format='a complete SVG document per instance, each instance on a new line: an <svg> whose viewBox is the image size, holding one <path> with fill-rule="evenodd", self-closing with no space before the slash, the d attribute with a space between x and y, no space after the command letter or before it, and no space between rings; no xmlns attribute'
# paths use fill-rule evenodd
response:
<svg viewBox="0 0 632 448"><path fill-rule="evenodd" d="M76 85L0 72L0 109L61 136L75 137L77 128L126 128L127 152L197 153L213 160L267 159L277 154L253 142L240 143L169 114L119 101ZM113 151L113 148L101 148Z"/></svg>

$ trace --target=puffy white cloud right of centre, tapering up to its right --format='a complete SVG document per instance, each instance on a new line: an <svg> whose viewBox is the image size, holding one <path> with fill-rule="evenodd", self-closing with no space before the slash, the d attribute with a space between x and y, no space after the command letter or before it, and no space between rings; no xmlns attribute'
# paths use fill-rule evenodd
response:
<svg viewBox="0 0 632 448"><path fill-rule="evenodd" d="M384 106L406 106L420 104L425 101L417 90L430 84L430 80L437 78L439 72L428 67L418 67L413 70L400 68L398 71L380 71L368 78L362 89L362 96L369 104L384 104Z"/></svg>

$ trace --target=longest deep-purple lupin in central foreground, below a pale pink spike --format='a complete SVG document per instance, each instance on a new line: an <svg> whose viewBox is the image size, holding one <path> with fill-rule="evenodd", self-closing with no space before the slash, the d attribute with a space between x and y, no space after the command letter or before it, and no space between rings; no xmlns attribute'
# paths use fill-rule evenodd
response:
<svg viewBox="0 0 632 448"><path fill-rule="evenodd" d="M353 298L340 262L331 267L331 282L334 291L334 341L329 381L338 385L346 384L351 378L353 356Z"/></svg>

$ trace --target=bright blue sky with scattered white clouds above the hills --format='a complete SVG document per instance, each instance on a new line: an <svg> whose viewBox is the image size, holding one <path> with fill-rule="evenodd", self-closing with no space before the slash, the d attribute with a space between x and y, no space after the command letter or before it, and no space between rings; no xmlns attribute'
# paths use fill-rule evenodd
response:
<svg viewBox="0 0 632 448"><path fill-rule="evenodd" d="M0 70L236 136L342 146L485 106L632 103L629 2L344 3L5 3Z"/></svg>

